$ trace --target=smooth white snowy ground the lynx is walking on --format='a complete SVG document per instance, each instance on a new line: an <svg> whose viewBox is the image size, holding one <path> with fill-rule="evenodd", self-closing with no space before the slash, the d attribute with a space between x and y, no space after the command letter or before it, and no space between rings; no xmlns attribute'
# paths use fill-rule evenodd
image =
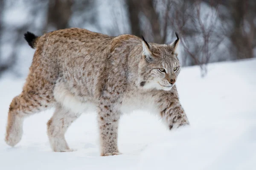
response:
<svg viewBox="0 0 256 170"><path fill-rule="evenodd" d="M256 59L183 68L177 88L190 127L168 131L159 118L136 111L119 128L123 155L99 156L96 114L82 115L67 132L72 153L51 151L46 122L52 110L26 119L23 139L5 144L7 111L24 80L0 80L1 170L256 170ZM131 126L132 125L132 126Z"/></svg>

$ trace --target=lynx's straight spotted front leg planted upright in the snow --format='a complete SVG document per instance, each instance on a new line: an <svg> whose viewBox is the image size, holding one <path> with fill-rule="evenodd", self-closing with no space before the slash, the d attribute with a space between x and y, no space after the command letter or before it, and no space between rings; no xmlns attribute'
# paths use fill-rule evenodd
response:
<svg viewBox="0 0 256 170"><path fill-rule="evenodd" d="M98 125L101 144L101 156L119 155L117 147L117 130L119 111L105 105L99 108Z"/></svg>

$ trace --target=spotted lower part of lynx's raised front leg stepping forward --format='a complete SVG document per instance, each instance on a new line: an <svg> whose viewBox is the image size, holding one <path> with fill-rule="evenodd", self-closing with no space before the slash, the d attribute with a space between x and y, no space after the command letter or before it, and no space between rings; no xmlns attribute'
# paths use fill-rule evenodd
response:
<svg viewBox="0 0 256 170"><path fill-rule="evenodd" d="M167 123L170 130L172 130L172 128L189 125L186 113L178 100L170 101L169 104L163 105L160 109L160 116L163 118L163 121Z"/></svg>

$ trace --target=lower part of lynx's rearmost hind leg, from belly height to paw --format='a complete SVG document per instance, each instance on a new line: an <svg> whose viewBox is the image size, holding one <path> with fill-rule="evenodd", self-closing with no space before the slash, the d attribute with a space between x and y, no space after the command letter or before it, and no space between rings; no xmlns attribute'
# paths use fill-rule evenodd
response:
<svg viewBox="0 0 256 170"><path fill-rule="evenodd" d="M40 83L37 85L40 86ZM51 85L43 86L40 91L36 89L38 86L26 84L23 92L12 100L9 107L5 141L12 147L21 140L24 118L53 105Z"/></svg>

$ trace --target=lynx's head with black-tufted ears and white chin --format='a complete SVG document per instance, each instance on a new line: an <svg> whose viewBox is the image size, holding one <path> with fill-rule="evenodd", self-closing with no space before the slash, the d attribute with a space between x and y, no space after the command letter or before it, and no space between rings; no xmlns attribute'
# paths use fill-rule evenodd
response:
<svg viewBox="0 0 256 170"><path fill-rule="evenodd" d="M143 51L139 63L139 86L144 89L158 89L169 91L175 85L180 73L180 62L175 50L179 44L177 40L169 45L159 45L142 41Z"/></svg>

